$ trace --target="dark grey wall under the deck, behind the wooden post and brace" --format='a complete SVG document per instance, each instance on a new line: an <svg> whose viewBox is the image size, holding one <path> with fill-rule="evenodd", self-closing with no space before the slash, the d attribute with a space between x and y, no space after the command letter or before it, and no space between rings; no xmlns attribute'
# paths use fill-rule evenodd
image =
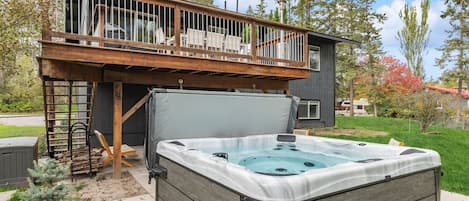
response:
<svg viewBox="0 0 469 201"><path fill-rule="evenodd" d="M95 99L93 129L101 131L110 145L112 145L113 120L113 87L112 83L100 83ZM125 114L137 101L147 93L143 85L123 86L122 114ZM145 108L142 107L132 115L122 126L122 142L128 145L142 145L145 134ZM97 145L93 139L93 144Z"/></svg>

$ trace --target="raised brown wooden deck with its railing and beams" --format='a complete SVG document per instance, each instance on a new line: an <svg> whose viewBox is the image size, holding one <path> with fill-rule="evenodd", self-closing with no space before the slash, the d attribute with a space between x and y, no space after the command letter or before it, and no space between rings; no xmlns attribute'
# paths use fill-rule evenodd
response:
<svg viewBox="0 0 469 201"><path fill-rule="evenodd" d="M285 90L310 76L307 29L181 0L80 2L46 13L45 79Z"/></svg>

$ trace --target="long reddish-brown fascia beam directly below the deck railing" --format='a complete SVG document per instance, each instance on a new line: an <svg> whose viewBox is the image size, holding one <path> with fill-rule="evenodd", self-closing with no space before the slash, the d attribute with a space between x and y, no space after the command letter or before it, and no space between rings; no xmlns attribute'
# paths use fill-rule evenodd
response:
<svg viewBox="0 0 469 201"><path fill-rule="evenodd" d="M310 70L306 68L161 55L136 50L100 48L48 41L42 41L41 43L43 47L43 58L60 61L141 66L148 67L149 69L156 67L177 70L198 70L291 79L303 79L310 76Z"/></svg>

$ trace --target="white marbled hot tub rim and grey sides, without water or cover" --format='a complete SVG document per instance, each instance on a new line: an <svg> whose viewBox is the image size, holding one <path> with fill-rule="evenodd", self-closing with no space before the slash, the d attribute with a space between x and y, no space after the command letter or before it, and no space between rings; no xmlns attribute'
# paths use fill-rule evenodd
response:
<svg viewBox="0 0 469 201"><path fill-rule="evenodd" d="M431 150L295 136L297 142L291 143L302 147L364 154L357 161L293 176L259 174L199 150L228 150L223 146L231 145L242 149L245 144L262 149L275 145L277 137L162 141L157 153L167 177L159 181L158 196L174 200L173 194L181 192L179 196L190 200L439 200L440 159ZM370 153L380 150L383 153Z"/></svg>

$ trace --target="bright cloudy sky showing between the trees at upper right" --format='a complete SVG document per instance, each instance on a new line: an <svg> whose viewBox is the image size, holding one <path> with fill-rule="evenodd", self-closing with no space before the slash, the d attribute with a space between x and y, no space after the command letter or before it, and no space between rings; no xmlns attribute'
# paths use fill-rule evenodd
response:
<svg viewBox="0 0 469 201"><path fill-rule="evenodd" d="M411 5L417 7L417 13L420 15L420 2L421 0L414 0ZM383 39L384 50L393 56L405 61L402 54L399 51L399 41L397 40L397 32L403 27L403 23L399 18L399 11L404 8L404 0L393 0L389 4L384 4L377 9L377 12L384 13L387 16L387 20L382 25L378 25L382 28L381 36ZM428 24L431 30L430 39L428 44L428 54L425 55L424 65L427 78L438 78L442 70L435 67L435 58L440 55L436 50L442 44L447 34L445 30L448 28L448 22L440 18L440 13L445 9L445 5L442 0L433 0L430 2L430 12L428 17Z"/></svg>

